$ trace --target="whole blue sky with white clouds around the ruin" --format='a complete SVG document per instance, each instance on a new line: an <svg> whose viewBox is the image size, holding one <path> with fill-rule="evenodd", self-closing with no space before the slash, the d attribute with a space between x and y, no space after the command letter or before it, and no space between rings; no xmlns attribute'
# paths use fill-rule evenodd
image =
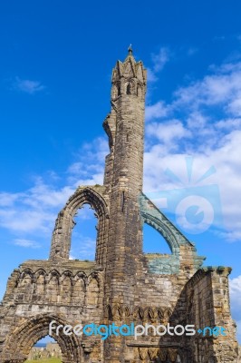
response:
<svg viewBox="0 0 241 363"><path fill-rule="evenodd" d="M0 5L1 296L21 262L48 257L54 219L75 188L102 182L111 69L131 43L149 76L145 191L207 265L233 268L241 325L241 4L230 4ZM72 257L92 259L92 211L78 221ZM159 249L151 233L147 251Z"/></svg>

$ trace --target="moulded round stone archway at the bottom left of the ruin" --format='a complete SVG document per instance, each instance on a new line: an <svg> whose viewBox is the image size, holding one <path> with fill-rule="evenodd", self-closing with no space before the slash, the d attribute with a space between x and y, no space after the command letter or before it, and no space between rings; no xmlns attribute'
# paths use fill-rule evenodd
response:
<svg viewBox="0 0 241 363"><path fill-rule="evenodd" d="M24 363L31 348L41 338L49 334L49 324L55 320L56 325L67 325L67 322L57 316L39 315L27 319L8 336L2 352L2 363ZM63 353L63 363L80 363L82 361L81 339L75 334L67 336L62 329L59 335L50 335L59 344Z"/></svg>

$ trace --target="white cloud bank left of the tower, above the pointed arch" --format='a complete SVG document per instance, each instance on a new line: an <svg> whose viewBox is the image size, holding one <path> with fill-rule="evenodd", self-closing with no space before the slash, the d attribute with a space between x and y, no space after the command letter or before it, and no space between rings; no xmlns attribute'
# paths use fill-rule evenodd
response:
<svg viewBox="0 0 241 363"><path fill-rule="evenodd" d="M0 227L18 237L21 234L22 240L30 240L29 236L35 234L51 238L57 214L76 188L79 185L102 184L104 156L108 152L107 141L103 138L84 143L74 156L76 161L67 169L65 180L53 172L45 181L35 178L34 186L27 191L1 193ZM64 184L63 187L59 185L60 182ZM83 211L79 211L79 214L88 219L88 212L86 209Z"/></svg>

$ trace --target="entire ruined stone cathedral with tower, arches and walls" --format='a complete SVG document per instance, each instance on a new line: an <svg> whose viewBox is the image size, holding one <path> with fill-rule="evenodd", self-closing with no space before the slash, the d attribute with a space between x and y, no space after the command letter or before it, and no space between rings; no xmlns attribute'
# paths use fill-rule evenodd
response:
<svg viewBox="0 0 241 363"><path fill-rule="evenodd" d="M236 362L236 325L230 316L228 267L202 267L190 242L142 192L147 72L131 47L111 79L111 113L103 123L110 153L103 185L80 186L59 212L49 260L27 260L7 282L0 305L0 362L24 363L49 334L50 323L82 326L150 324L196 329L223 327L226 335L57 334L63 363ZM83 204L98 217L94 261L70 260L73 218ZM143 224L167 241L170 255L145 254ZM81 241L80 241L81 243Z"/></svg>

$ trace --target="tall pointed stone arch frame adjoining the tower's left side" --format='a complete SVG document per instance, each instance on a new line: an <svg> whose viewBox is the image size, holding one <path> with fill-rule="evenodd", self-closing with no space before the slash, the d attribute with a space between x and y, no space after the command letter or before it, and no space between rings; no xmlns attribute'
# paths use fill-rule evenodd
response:
<svg viewBox="0 0 241 363"><path fill-rule="evenodd" d="M69 199L62 211L59 212L53 231L50 260L69 260L73 218L83 204L90 204L98 217L98 231L96 242L96 261L100 264L106 255L105 231L109 219L107 202L101 186L80 187Z"/></svg>

